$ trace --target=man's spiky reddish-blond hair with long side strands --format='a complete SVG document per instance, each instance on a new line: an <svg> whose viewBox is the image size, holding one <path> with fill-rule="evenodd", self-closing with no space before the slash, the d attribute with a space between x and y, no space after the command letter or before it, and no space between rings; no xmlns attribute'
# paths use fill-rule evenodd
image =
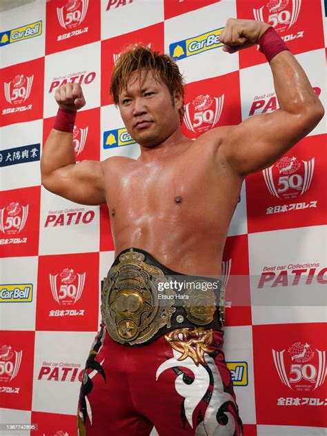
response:
<svg viewBox="0 0 327 436"><path fill-rule="evenodd" d="M183 121L184 117L184 78L179 71L177 63L167 54L160 54L151 50L149 47L136 44L128 46L121 53L114 70L112 71L110 94L116 104L119 103L119 93L121 90L127 91L128 81L132 72L146 70L152 72L153 77L164 83L172 97L174 106L174 93L179 92L183 99L183 104L179 109L179 118ZM143 81L146 79L144 77Z"/></svg>

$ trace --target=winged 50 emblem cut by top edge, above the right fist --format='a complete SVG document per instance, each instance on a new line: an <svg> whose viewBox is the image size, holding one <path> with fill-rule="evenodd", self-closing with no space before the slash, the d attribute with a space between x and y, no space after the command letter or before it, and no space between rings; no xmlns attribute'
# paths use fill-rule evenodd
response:
<svg viewBox="0 0 327 436"><path fill-rule="evenodd" d="M297 22L299 18L299 12L301 9L302 0L292 0L291 10L288 8L290 0L270 0L266 6L262 6L260 9L253 9L253 15L255 20L264 21L273 26L273 28L286 28L287 30ZM264 9L268 10L268 17L264 17Z"/></svg>

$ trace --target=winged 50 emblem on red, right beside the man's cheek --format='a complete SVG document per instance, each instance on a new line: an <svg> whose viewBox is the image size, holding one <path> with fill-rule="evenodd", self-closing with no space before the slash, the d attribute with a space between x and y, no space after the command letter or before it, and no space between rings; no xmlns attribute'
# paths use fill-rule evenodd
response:
<svg viewBox="0 0 327 436"><path fill-rule="evenodd" d="M224 97L214 97L210 95L198 95L193 101L185 105L184 121L186 127L191 132L206 132L210 128L217 126L224 107Z"/></svg>

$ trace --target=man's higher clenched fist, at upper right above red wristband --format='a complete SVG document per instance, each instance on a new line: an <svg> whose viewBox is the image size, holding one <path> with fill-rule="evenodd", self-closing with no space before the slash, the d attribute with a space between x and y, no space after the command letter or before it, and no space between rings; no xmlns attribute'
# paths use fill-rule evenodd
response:
<svg viewBox="0 0 327 436"><path fill-rule="evenodd" d="M224 52L235 53L259 44L260 38L270 26L255 20L227 20L219 40L225 44Z"/></svg>

